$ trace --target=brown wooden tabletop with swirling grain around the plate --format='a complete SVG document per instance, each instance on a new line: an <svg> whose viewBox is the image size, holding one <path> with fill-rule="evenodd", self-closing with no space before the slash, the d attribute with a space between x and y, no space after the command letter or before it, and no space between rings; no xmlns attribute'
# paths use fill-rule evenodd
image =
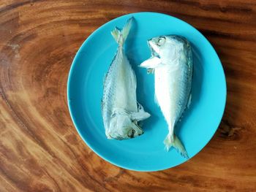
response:
<svg viewBox="0 0 256 192"><path fill-rule="evenodd" d="M129 12L187 21L227 77L225 115L185 164L132 172L99 158L67 108L67 75L91 32ZM0 0L0 191L256 191L256 1Z"/></svg>

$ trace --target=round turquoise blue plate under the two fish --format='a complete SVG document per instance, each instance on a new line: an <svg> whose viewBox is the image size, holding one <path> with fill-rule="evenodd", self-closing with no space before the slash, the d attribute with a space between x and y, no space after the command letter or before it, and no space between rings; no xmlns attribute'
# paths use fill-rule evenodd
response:
<svg viewBox="0 0 256 192"><path fill-rule="evenodd" d="M122 28L132 16L135 25L127 39L126 53L137 76L138 101L151 113L151 118L143 121L145 133L140 137L110 140L105 137L101 115L103 77L117 49L110 31L116 26ZM195 65L192 104L176 127L176 134L190 158L206 146L222 119L227 94L225 74L206 37L182 20L155 12L138 12L111 20L94 31L75 55L67 82L67 98L80 137L91 150L116 166L157 171L187 161L175 149L165 150L167 124L154 103L154 75L138 67L151 55L146 40L165 34L182 35L192 43Z"/></svg>

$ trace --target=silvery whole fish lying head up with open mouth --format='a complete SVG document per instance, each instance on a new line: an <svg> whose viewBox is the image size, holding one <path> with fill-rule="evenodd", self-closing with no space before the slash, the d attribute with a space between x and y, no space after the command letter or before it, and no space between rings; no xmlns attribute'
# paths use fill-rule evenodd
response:
<svg viewBox="0 0 256 192"><path fill-rule="evenodd" d="M188 158L174 128L191 101L192 50L187 39L170 35L148 40L151 58L140 64L154 73L155 100L161 108L169 133L164 140L167 150L175 147Z"/></svg>

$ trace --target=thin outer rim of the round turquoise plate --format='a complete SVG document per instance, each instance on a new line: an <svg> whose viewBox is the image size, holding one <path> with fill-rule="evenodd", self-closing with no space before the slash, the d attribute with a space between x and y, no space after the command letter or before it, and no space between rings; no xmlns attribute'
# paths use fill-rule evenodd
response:
<svg viewBox="0 0 256 192"><path fill-rule="evenodd" d="M221 121L222 121L222 118L223 118L223 115L224 115L224 112L225 112L225 107L226 107L226 104L227 104L227 81L226 81L225 71L224 71L224 68L223 68L223 66L222 66L222 62L221 62L220 59L219 59L219 55L217 54L217 51L214 49L214 46L211 45L211 42L209 42L208 39L207 39L200 31L197 30L197 28L195 28L194 26L190 25L189 23L187 23L187 22L184 21L184 20L181 20L181 19L179 19L179 18L174 17L173 15L167 15L167 14L161 13L161 12L132 12L132 13L129 13L129 14L125 14L125 15L118 16L117 18L114 18L113 20L110 20L110 21L108 21L107 23L104 23L102 26L99 26L99 28L95 29L95 30L89 35L89 37L87 37L87 38L83 41L82 45L80 45L80 47L79 47L79 49L78 49L77 53L75 54L75 57L74 57L74 59L73 59L73 61L72 61L72 64L71 64L71 66L70 66L69 74L68 74L68 77L67 77L67 105L68 105L68 109L69 109L69 115L70 115L70 117L71 117L71 119L72 119L72 123L74 124L76 131L78 131L78 134L79 134L80 138L83 139L83 142L85 142L86 145L87 145L94 153L96 153L100 158L103 158L105 161L108 161L110 164L113 164L113 165L115 165L115 166L121 167L121 168L123 168L123 169L128 169L128 170L132 170L132 171L136 171L136 172L157 172L157 171L162 171L162 170L165 170L165 169L170 169L170 168L173 168L173 167L175 167L175 166L179 166L179 165L184 164L185 162L189 161L190 159L192 159L193 157L195 157L195 155L197 155L198 153L200 153L200 151L203 150L203 148L206 147L206 145L208 145L208 143L209 143L209 142L211 141L211 139L214 137L214 134L212 134L212 136L209 137L209 139L208 139L207 142L206 142L206 145L203 145L203 146L200 148L200 150L198 150L198 152L195 153L195 155L193 155L192 157L190 157L190 158L189 158L188 160L186 160L186 161L181 161L181 163L176 164L175 166L165 166L165 167L162 167L161 169L156 169L155 167L154 167L154 169L152 169L152 168L149 168L149 169L133 169L133 168L130 167L130 166L125 166L125 165L123 165L123 164L118 164L118 163L116 163L116 162L114 162L114 161L111 161L111 160L108 159L108 157L105 157L105 155L100 155L100 154L98 153L98 151L97 151L97 150L94 150L94 147L91 146L91 145L89 144L89 142L86 141L85 138L83 138L83 134L81 134L80 128L78 128L78 127L79 127L79 126L78 126L78 123L76 123L76 121L75 121L75 118L74 118L75 115L74 115L74 112L72 112L72 107L71 107L71 104L70 104L70 102L71 102L72 99L70 99L70 96L69 96L69 92L70 92L70 89L71 89L71 88L70 88L70 85L71 85L72 72L74 71L75 63L78 62L78 61L77 61L77 60L78 60L78 55L80 55L80 53L81 53L82 50L83 50L83 47L86 46L86 43L89 42L90 39L93 39L93 38L94 38L94 35L97 33L97 31L98 31L100 28L104 28L104 27L105 27L106 25L108 25L109 23L113 23L113 22L115 22L116 20L118 20L118 19L120 19L120 18L123 18L123 17L127 17L127 16L129 16L129 15L133 16L133 15L141 15L141 14L162 15L162 16L165 16L165 17L170 17L170 18L173 18L173 19L175 19L175 20L178 20L178 22L184 23L185 25L187 25L187 26L193 28L193 30L197 31L197 33L199 33L200 36L201 36L203 39L205 39L206 42L208 43L208 45L214 50L214 53L216 53L216 55L217 55L217 61L218 61L218 63L219 63L219 66L220 66L221 69L222 69L221 72L223 73L223 77L224 77L224 79L223 79L223 80L224 80L223 84L224 84L224 88L225 88L225 93L223 93L223 94L224 94L224 96L223 96L223 98L224 98L224 100L223 100L224 106L223 106L223 108L222 108L222 112L221 112L222 114L220 115L221 118L220 118L219 120L217 120L217 121L219 121L219 122L217 123L218 126L214 129L214 134L216 134L216 131L217 131L217 129L219 128L219 124L220 124Z"/></svg>

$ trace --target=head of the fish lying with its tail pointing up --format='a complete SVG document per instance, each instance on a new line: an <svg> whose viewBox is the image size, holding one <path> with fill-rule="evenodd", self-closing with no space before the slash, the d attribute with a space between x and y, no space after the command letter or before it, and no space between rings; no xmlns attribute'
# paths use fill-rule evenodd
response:
<svg viewBox="0 0 256 192"><path fill-rule="evenodd" d="M137 122L131 120L129 115L116 115L110 120L110 128L106 133L111 139L131 139L143 134Z"/></svg>

